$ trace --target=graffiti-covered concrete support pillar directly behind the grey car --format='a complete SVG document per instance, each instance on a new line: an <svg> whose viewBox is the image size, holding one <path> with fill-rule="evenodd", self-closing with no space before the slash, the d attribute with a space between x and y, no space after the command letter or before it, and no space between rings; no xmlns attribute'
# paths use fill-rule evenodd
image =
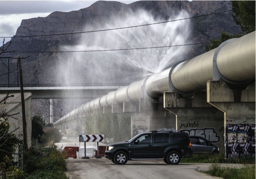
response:
<svg viewBox="0 0 256 179"><path fill-rule="evenodd" d="M204 137L224 152L223 112L207 104L206 99L205 92L196 92L190 97L165 92L164 108L176 115L176 130Z"/></svg>

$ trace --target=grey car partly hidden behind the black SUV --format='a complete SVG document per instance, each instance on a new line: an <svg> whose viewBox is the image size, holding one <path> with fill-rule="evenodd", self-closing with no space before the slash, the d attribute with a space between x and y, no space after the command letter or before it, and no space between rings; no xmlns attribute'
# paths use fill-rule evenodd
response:
<svg viewBox="0 0 256 179"><path fill-rule="evenodd" d="M191 149L193 154L197 153L209 153L217 154L219 153L219 148L212 144L207 139L200 136L189 136L191 142Z"/></svg>

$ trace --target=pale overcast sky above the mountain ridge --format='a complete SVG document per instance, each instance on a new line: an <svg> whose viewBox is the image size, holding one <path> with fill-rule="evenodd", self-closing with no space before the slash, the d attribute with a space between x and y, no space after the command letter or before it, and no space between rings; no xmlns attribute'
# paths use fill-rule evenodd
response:
<svg viewBox="0 0 256 179"><path fill-rule="evenodd" d="M70 12L87 8L96 1L3 1L0 0L0 37L12 37L22 19L46 17L55 11ZM119 1L130 4L134 1ZM10 38L5 38L5 42ZM2 43L3 38L0 38Z"/></svg>

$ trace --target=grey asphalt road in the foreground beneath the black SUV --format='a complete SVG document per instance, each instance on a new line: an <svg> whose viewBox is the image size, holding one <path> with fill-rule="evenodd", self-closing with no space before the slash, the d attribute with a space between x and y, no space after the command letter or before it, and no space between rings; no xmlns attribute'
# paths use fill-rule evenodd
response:
<svg viewBox="0 0 256 179"><path fill-rule="evenodd" d="M69 179L217 179L205 174L210 164L180 163L167 165L161 160L128 161L125 165L116 165L111 160L67 159Z"/></svg>

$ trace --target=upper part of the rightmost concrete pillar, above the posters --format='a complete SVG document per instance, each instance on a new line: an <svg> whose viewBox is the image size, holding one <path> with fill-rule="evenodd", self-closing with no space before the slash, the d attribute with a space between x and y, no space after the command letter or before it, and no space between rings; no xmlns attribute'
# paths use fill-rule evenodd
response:
<svg viewBox="0 0 256 179"><path fill-rule="evenodd" d="M207 102L224 112L224 126L255 124L255 81L244 90L232 90L224 81L208 81Z"/></svg>

